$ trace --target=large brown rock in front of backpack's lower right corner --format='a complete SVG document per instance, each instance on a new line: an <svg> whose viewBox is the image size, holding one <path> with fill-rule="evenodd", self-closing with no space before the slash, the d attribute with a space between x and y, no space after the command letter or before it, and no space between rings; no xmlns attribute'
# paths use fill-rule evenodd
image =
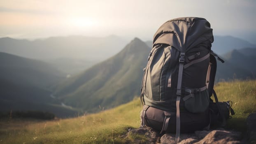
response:
<svg viewBox="0 0 256 144"><path fill-rule="evenodd" d="M240 144L241 132L213 130L195 144Z"/></svg>

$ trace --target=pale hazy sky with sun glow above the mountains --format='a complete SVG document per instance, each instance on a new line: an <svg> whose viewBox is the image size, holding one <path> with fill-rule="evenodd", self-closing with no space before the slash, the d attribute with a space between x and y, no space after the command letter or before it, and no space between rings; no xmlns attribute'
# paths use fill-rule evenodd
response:
<svg viewBox="0 0 256 144"><path fill-rule="evenodd" d="M0 37L117 35L152 40L177 17L203 17L214 35L256 44L256 0L1 0Z"/></svg>

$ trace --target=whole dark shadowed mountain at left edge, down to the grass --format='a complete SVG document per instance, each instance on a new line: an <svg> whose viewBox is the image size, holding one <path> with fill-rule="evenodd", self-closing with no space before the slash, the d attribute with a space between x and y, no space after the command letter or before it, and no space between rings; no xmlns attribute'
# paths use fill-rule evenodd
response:
<svg viewBox="0 0 256 144"><path fill-rule="evenodd" d="M61 101L51 97L52 86L64 78L53 66L39 60L0 52L0 110L58 111ZM59 110L58 110L59 109ZM65 109L68 114L75 112ZM63 114L64 115L64 114ZM62 116L63 116L62 115Z"/></svg>

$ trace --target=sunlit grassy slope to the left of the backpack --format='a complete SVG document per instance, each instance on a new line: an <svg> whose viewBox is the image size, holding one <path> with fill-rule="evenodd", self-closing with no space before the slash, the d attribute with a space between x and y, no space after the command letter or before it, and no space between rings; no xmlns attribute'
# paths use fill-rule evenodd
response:
<svg viewBox="0 0 256 144"><path fill-rule="evenodd" d="M123 143L121 135L140 125L140 101L78 118L54 121L2 120L0 144Z"/></svg>

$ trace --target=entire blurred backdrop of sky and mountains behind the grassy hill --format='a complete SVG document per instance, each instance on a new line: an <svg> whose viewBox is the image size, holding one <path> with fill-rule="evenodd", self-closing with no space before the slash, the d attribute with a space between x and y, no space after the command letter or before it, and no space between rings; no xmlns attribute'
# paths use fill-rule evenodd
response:
<svg viewBox="0 0 256 144"><path fill-rule="evenodd" d="M255 0L2 0L0 115L66 118L133 100L154 33L184 16L211 23L212 50L226 60L216 81L255 79L255 7Z"/></svg>

